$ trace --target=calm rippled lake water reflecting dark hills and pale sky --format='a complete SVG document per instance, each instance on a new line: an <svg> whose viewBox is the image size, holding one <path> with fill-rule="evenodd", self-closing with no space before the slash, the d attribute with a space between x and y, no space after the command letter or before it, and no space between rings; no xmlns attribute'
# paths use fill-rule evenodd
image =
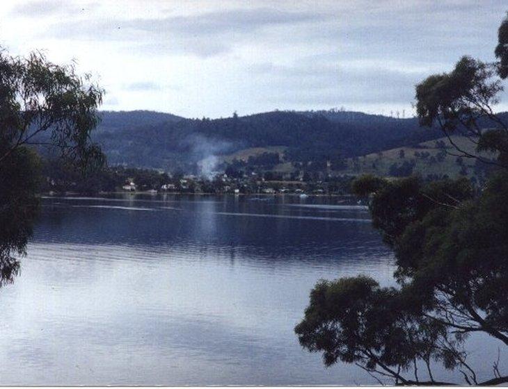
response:
<svg viewBox="0 0 508 389"><path fill-rule="evenodd" d="M0 290L1 385L375 383L293 329L319 279L392 283L365 207L299 197L46 198Z"/></svg>

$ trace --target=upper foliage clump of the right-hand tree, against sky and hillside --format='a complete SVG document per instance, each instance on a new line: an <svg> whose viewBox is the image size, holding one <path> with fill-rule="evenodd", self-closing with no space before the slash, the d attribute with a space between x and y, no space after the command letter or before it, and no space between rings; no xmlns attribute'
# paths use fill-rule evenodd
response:
<svg viewBox="0 0 508 389"><path fill-rule="evenodd" d="M500 80L495 78L499 69L499 64L464 56L452 72L429 76L416 86L416 110L420 124L438 123L460 156L508 167L507 121L493 113L498 94L503 90ZM451 133L468 138L477 151L498 154L497 163L459 147L450 138Z"/></svg>

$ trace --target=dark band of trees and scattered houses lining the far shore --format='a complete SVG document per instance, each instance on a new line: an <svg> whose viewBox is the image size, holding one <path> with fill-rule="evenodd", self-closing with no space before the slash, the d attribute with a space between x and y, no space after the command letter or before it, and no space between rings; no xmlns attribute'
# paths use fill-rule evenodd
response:
<svg viewBox="0 0 508 389"><path fill-rule="evenodd" d="M41 165L40 192L87 195L134 188L136 191L168 190L182 193L224 193L238 188L241 193L247 194L260 192L263 188L278 191L291 188L292 185L305 185L310 192L347 194L349 184L354 179L353 176L326 176L320 169L296 169L290 174L283 174L271 169L255 171L234 165L228 166L223 174L208 179L203 176L186 176L182 171L168 174L156 169L123 166L104 166L83 172L72 163L58 158L42 160ZM134 188L129 189L131 183L134 183Z"/></svg>

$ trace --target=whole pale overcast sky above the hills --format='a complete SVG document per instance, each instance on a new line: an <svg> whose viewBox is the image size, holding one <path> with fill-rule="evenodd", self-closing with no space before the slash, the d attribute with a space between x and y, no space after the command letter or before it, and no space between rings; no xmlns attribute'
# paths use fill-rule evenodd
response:
<svg viewBox="0 0 508 389"><path fill-rule="evenodd" d="M407 116L428 74L464 54L493 60L507 10L506 0L2 0L0 45L77 60L109 110Z"/></svg>

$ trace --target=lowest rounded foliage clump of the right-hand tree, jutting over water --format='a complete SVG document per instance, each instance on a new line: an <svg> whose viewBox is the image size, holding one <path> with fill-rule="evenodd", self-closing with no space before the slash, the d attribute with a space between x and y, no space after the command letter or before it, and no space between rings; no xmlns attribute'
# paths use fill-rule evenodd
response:
<svg viewBox="0 0 508 389"><path fill-rule="evenodd" d="M443 324L401 309L407 304L404 297L404 292L380 288L366 276L320 281L295 331L303 347L323 352L327 366L338 360L371 372L383 366L399 382L413 383L400 370L418 359L444 359L443 350L434 345L446 331ZM452 360L447 367L454 366Z"/></svg>

